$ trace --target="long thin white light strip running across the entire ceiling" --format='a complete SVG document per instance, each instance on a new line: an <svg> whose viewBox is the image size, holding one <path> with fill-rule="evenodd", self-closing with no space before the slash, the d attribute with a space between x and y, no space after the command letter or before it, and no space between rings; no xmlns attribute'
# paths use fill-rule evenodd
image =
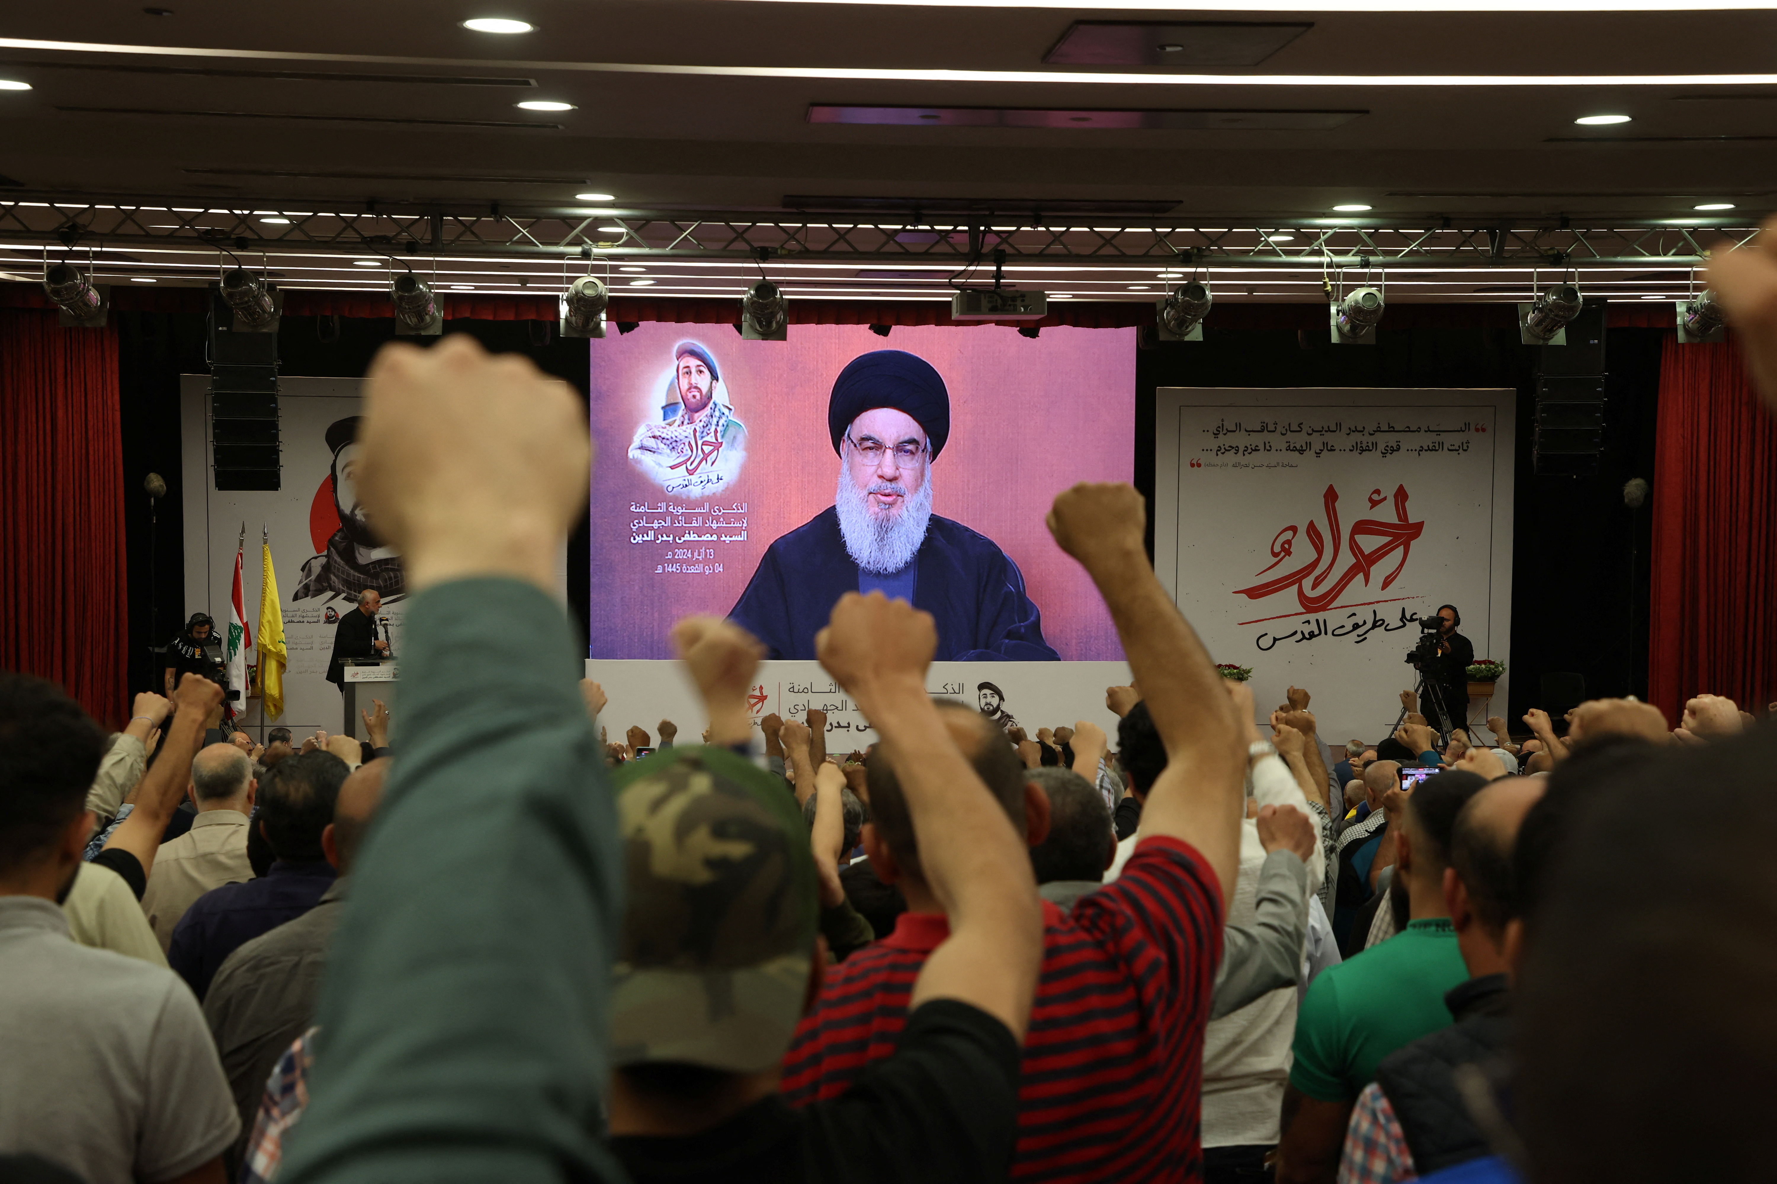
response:
<svg viewBox="0 0 1777 1184"><path fill-rule="evenodd" d="M780 0L785 2L785 0ZM796 2L796 0L787 0ZM809 0L814 2L814 0ZM876 0L853 0L876 2ZM894 0L920 7L929 0ZM1223 0L1230 4L1231 0ZM1269 2L1269 0L1263 0ZM1768 4L1752 0L1704 0L1715 9L1766 9ZM933 5L938 7L938 5ZM1004 7L1000 0L967 0L956 7ZM1064 7L1082 9L1088 5L1073 0L1031 0L1025 7ZM1137 0L1136 4L1118 4L1121 11L1167 11L1176 4L1160 0ZM1246 9L1233 9L1246 11ZM1470 0L1468 4L1434 4L1420 0L1413 4L1365 7L1345 0L1278 0L1267 9L1251 11L1288 11L1288 12L1544 12L1546 4L1530 0ZM1679 0L1615 0L1606 4L1567 4L1562 11L1571 12L1695 12L1695 4ZM306 53L297 50L227 50L208 46L165 46L165 44L112 44L101 41L48 41L41 37L0 37L0 50L48 50L53 53L110 53L121 57L195 57L210 60L252 60L252 62L323 62L339 66L425 66L425 67L473 67L473 69L524 69L524 71L562 71L562 73L599 73L599 75L682 75L711 78L812 78L826 82L1013 82L1013 83L1098 83L1098 85L1137 85L1137 87L1768 87L1777 85L1777 73L1765 75L1178 75L1178 73L1139 73L1139 71L1061 71L1061 69L851 69L835 66L675 66L652 62L501 62L492 59L446 59L446 57L405 57L394 53Z"/></svg>

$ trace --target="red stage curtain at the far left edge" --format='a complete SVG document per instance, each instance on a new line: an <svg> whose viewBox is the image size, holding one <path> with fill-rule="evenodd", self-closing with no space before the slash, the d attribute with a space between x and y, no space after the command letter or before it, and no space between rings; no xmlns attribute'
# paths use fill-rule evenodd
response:
<svg viewBox="0 0 1777 1184"><path fill-rule="evenodd" d="M0 309L0 669L128 717L117 332Z"/></svg>

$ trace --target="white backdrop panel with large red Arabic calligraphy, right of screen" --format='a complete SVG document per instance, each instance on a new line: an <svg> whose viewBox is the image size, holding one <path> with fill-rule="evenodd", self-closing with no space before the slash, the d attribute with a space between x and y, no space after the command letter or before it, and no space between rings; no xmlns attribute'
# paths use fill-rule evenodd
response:
<svg viewBox="0 0 1777 1184"><path fill-rule="evenodd" d="M1214 659L1253 667L1262 710L1294 683L1327 742L1381 738L1441 604L1477 660L1507 660L1514 398L1159 391L1155 568Z"/></svg>

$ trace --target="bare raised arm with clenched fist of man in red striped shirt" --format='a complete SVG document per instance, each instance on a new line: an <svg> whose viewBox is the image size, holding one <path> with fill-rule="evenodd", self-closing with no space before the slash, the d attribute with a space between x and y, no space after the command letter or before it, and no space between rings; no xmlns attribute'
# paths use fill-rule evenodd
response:
<svg viewBox="0 0 1777 1184"><path fill-rule="evenodd" d="M1233 900L1240 864L1246 746L1210 655L1153 575L1143 549L1146 509L1128 485L1075 485L1056 499L1048 529L1080 561L1111 609L1166 770L1148 792L1141 834L1196 847Z"/></svg>

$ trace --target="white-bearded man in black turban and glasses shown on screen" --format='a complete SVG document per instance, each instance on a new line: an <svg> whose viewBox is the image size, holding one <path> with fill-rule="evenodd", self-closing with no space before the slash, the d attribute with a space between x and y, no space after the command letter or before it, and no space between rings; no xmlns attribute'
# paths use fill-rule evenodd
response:
<svg viewBox="0 0 1777 1184"><path fill-rule="evenodd" d="M729 616L773 659L812 659L848 591L881 591L931 612L944 660L1059 655L1024 573L993 540L931 513L931 465L951 437L951 394L920 357L878 350L833 382L826 426L839 453L833 504L766 550Z"/></svg>

